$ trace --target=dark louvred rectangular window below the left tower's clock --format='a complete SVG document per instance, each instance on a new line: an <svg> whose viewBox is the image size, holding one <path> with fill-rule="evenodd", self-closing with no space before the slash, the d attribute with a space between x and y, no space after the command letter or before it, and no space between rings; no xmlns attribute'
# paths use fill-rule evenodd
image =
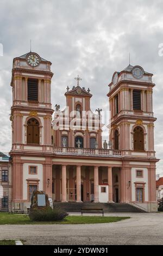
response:
<svg viewBox="0 0 163 256"><path fill-rule="evenodd" d="M28 100L38 101L38 79L28 79Z"/></svg>

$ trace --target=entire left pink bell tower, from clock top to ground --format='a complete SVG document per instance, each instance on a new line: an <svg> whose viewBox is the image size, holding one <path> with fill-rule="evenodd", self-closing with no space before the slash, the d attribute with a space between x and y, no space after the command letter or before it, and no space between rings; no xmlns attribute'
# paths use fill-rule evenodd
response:
<svg viewBox="0 0 163 256"><path fill-rule="evenodd" d="M18 203L14 207L29 207L36 189L52 197L51 64L35 52L13 60L10 156L13 204Z"/></svg>

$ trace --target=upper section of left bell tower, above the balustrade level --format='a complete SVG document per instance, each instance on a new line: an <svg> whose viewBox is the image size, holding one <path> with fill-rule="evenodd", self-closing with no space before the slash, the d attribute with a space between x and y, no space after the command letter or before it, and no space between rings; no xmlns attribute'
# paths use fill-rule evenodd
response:
<svg viewBox="0 0 163 256"><path fill-rule="evenodd" d="M29 52L12 67L12 151L51 146L51 62Z"/></svg>

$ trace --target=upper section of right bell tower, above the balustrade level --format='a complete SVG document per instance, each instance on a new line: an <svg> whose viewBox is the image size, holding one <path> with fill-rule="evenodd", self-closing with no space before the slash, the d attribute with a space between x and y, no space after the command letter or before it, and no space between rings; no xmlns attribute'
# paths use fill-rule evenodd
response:
<svg viewBox="0 0 163 256"><path fill-rule="evenodd" d="M142 67L131 65L112 76L108 97L113 149L155 156L152 76Z"/></svg>

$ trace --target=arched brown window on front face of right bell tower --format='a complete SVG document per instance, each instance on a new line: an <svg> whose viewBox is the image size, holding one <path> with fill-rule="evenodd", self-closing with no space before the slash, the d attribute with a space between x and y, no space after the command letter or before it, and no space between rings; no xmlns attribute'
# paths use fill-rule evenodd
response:
<svg viewBox="0 0 163 256"><path fill-rule="evenodd" d="M144 150L144 135L140 126L134 129L134 150Z"/></svg>

